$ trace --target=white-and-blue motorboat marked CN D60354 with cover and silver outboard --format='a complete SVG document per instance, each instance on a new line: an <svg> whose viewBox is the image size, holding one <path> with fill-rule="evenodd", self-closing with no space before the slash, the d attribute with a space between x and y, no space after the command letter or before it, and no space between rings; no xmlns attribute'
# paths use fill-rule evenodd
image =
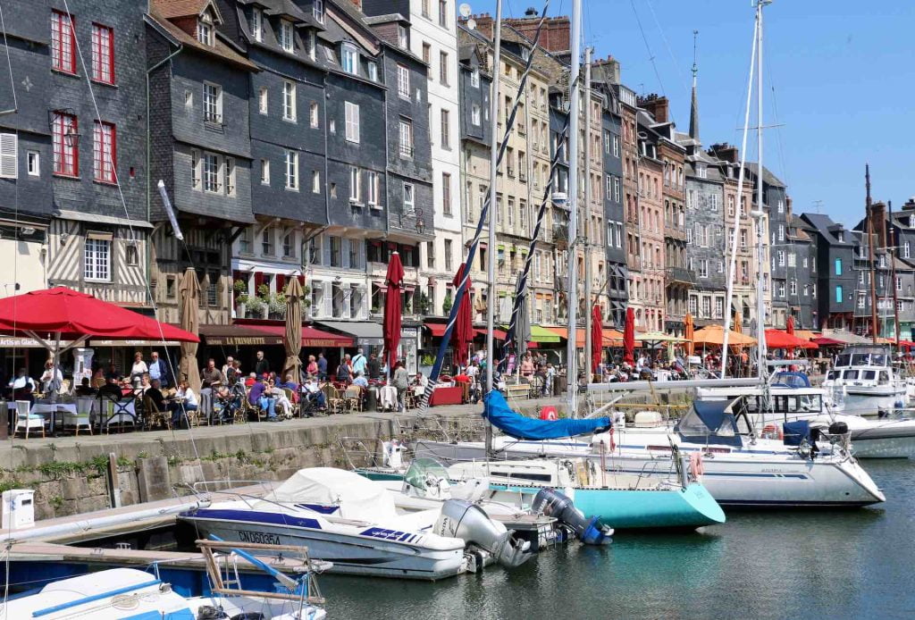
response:
<svg viewBox="0 0 915 620"><path fill-rule="evenodd" d="M438 580L530 556L528 543L466 501L407 512L368 478L332 467L301 469L264 497L178 518L224 540L307 546L312 558L333 562L332 572Z"/></svg>

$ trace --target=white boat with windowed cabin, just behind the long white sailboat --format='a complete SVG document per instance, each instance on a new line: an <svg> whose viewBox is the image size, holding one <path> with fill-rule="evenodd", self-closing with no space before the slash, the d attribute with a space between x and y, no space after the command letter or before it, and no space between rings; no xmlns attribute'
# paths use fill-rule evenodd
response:
<svg viewBox="0 0 915 620"><path fill-rule="evenodd" d="M865 418L827 405L828 394L813 388L801 373L778 373L765 389L709 388L696 390L701 401L732 401L747 413L758 436L780 434L782 422L808 420L813 428L833 428L850 433L852 452L858 458L909 458L915 456L915 420L894 416ZM840 424L840 426L833 426ZM842 430L841 424L845 424Z"/></svg>

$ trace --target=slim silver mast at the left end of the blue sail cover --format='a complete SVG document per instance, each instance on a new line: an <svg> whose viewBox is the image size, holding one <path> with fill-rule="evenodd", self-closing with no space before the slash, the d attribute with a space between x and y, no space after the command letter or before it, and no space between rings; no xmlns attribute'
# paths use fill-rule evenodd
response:
<svg viewBox="0 0 915 620"><path fill-rule="evenodd" d="M486 267L486 277L490 282L489 304L486 309L486 393L492 391L492 375L495 372L493 365L493 351L495 342L492 330L496 322L496 162L499 159L499 139L496 137L496 118L499 114L499 76L501 75L500 57L502 42L502 1L496 0L496 21L492 30L492 91L490 92L490 122L492 123L491 148L490 148L490 254ZM505 119L508 123L508 118ZM486 454L492 450L492 426L486 425Z"/></svg>

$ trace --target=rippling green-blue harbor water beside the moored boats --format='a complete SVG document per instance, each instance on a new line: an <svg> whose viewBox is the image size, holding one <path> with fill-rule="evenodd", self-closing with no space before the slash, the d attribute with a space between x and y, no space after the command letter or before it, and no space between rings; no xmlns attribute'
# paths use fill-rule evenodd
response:
<svg viewBox="0 0 915 620"><path fill-rule="evenodd" d="M865 461L888 500L732 512L693 534L571 544L441 583L323 575L335 618L912 618L915 462Z"/></svg>

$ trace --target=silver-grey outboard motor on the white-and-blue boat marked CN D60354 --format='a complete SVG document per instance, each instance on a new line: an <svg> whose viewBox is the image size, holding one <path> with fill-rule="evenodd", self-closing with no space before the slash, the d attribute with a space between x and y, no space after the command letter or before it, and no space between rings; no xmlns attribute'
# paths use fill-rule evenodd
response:
<svg viewBox="0 0 915 620"><path fill-rule="evenodd" d="M492 520L482 508L464 499L447 499L433 532L461 539L488 551L502 566L514 568L531 558L531 543L517 540L499 521Z"/></svg>

